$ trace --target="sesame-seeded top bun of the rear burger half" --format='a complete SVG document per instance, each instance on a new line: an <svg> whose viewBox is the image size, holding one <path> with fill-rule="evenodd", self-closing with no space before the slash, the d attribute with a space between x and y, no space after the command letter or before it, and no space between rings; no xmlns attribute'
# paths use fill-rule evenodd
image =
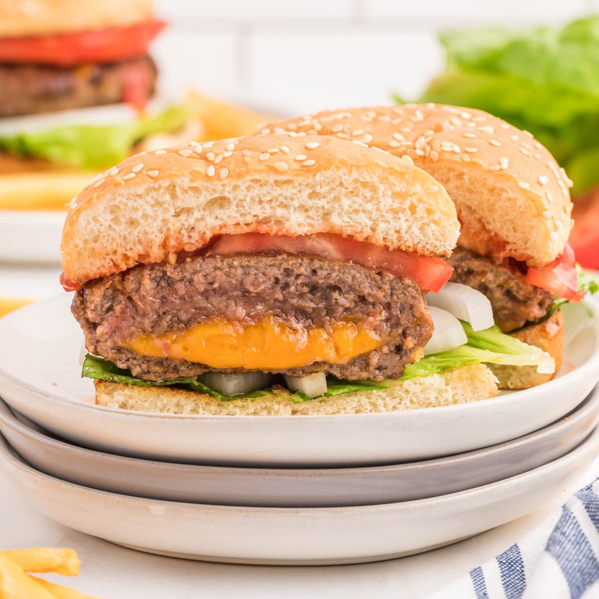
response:
<svg viewBox="0 0 599 599"><path fill-rule="evenodd" d="M406 104L323 111L271 123L379 147L443 184L462 225L460 245L540 268L564 251L573 221L571 181L527 131L482 110Z"/></svg>

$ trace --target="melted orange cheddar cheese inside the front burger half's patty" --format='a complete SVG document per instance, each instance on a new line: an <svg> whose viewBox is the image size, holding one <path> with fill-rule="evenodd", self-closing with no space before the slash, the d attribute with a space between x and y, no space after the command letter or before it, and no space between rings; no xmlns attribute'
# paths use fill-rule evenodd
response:
<svg viewBox="0 0 599 599"><path fill-rule="evenodd" d="M313 364L345 364L385 341L362 323L329 328L291 328L274 317L253 325L214 320L165 335L142 335L125 345L142 356L183 359L211 368L286 370Z"/></svg>

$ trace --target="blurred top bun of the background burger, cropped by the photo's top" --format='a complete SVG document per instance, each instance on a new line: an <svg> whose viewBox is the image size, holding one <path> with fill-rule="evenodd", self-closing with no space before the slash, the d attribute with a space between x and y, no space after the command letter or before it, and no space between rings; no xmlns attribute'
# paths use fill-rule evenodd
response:
<svg viewBox="0 0 599 599"><path fill-rule="evenodd" d="M132 25L152 18L152 0L2 0L0 37L55 35Z"/></svg>

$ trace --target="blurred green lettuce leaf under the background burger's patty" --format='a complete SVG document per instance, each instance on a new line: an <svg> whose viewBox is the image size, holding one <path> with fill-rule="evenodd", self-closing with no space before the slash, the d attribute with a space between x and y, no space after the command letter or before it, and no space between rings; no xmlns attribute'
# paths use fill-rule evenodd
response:
<svg viewBox="0 0 599 599"><path fill-rule="evenodd" d="M104 168L125 159L138 141L183 128L188 117L186 107L171 106L156 116L125 125L73 125L0 136L0 152L83 169Z"/></svg>

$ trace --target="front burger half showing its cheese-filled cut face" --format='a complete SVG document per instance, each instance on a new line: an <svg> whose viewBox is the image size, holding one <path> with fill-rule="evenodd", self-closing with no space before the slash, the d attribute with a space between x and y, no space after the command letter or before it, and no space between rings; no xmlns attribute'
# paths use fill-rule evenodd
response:
<svg viewBox="0 0 599 599"><path fill-rule="evenodd" d="M443 186L362 144L261 135L128 158L83 190L63 229L83 375L102 406L169 413L492 397L482 362L552 361L506 335L511 353L469 346L452 314L431 318L425 293L452 275L458 234Z"/></svg>

